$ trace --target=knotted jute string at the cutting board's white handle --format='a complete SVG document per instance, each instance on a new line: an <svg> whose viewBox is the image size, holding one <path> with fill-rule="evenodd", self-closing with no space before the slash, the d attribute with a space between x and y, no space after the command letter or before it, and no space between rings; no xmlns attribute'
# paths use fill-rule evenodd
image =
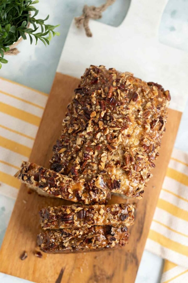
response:
<svg viewBox="0 0 188 283"><path fill-rule="evenodd" d="M102 18L102 12L104 12L115 1L116 0L107 0L105 4L99 7L85 5L83 7L83 14L80 17L75 18L76 26L80 27L83 24L86 35L88 37L92 37L92 32L89 28L89 19L97 20Z"/></svg>

